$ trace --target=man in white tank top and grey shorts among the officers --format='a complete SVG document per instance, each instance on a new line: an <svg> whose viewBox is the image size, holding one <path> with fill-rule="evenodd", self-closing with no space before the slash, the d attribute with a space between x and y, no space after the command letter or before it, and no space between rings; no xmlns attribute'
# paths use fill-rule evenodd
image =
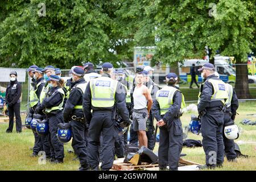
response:
<svg viewBox="0 0 256 182"><path fill-rule="evenodd" d="M137 73L135 77L137 85L133 92L133 130L138 133L139 147L147 147L146 121L153 104L150 90L143 85L143 79L143 74Z"/></svg>

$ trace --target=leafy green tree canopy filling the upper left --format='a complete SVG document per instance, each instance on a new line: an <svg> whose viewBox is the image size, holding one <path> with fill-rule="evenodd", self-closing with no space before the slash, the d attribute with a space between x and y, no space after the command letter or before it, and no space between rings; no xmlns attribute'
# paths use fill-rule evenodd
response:
<svg viewBox="0 0 256 182"><path fill-rule="evenodd" d="M43 1L44 2L44 1ZM41 0L5 1L0 19L0 57L2 67L40 67L54 65L71 68L82 62L110 61L113 52L110 32L112 6L105 1L46 1L46 16L39 16ZM10 13L7 13L10 11Z"/></svg>

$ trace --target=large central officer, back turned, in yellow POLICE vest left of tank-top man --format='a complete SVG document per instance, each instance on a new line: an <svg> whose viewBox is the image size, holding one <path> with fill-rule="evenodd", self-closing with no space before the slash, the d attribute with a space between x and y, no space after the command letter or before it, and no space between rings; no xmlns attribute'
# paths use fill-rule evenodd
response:
<svg viewBox="0 0 256 182"><path fill-rule="evenodd" d="M88 161L90 169L98 170L100 135L102 133L102 170L109 170L114 161L114 141L118 136L115 127L115 105L123 121L129 121L123 86L113 80L113 65L102 65L102 76L88 82L83 98L83 110L89 123ZM90 110L93 110L93 114Z"/></svg>

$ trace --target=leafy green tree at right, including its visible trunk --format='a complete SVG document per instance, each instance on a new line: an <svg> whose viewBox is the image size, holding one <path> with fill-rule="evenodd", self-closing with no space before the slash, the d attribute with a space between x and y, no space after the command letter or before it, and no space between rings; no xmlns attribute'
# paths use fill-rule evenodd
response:
<svg viewBox="0 0 256 182"><path fill-rule="evenodd" d="M140 2L131 0L126 2ZM208 46L212 57L216 50L222 55L235 56L237 63L245 63L247 53L251 52L255 40L254 1L143 1L144 23L152 23L152 32L141 29L133 32L136 42L143 37L154 35L158 38L156 59L175 64L189 58L201 58ZM136 16L138 7L129 11ZM137 11L136 11L137 10ZM140 16L137 23L142 23ZM134 23L133 23L134 24ZM149 24L144 24L148 27ZM141 35L141 36L135 36ZM210 59L212 59L210 57ZM240 98L249 98L246 66L237 66L236 91ZM241 85L242 83L242 85Z"/></svg>

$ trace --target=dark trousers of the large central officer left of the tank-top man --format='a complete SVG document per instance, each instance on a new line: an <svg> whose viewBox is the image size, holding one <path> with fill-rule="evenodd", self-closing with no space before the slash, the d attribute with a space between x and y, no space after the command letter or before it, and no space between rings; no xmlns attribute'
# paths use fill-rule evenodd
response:
<svg viewBox="0 0 256 182"><path fill-rule="evenodd" d="M114 142L118 137L112 112L94 111L89 126L88 162L92 169L99 165L100 136L102 135L102 170L109 170L114 162Z"/></svg>

